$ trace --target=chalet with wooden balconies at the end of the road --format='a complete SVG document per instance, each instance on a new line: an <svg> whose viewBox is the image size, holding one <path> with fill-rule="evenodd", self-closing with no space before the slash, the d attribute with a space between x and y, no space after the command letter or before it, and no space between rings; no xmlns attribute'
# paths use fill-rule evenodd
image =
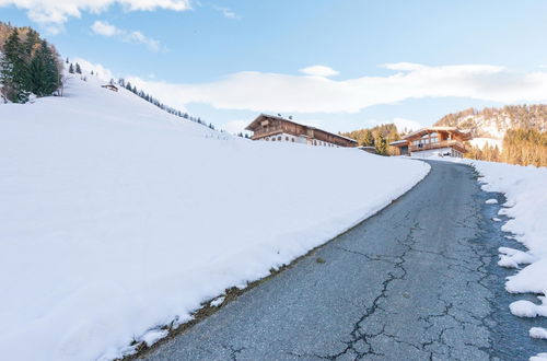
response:
<svg viewBox="0 0 547 361"><path fill-rule="evenodd" d="M431 127L411 132L389 145L396 147L399 155L463 158L466 152L464 141L470 138L469 132L454 127Z"/></svg>

